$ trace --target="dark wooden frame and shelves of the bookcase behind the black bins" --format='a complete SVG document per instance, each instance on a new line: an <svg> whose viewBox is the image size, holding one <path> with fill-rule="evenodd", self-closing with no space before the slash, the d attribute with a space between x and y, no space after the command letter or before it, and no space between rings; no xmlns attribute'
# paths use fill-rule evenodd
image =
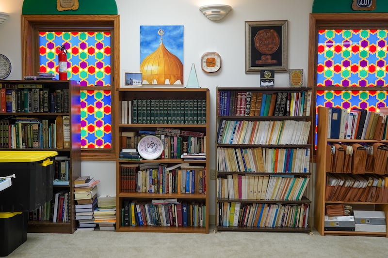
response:
<svg viewBox="0 0 388 258"><path fill-rule="evenodd" d="M16 90L19 91L23 88L37 88L39 90L48 89L48 93L55 92L56 90L68 90L68 98L65 98L65 102L61 105L68 106L68 112L54 112L50 108L38 110L37 112L26 111L22 109L23 107L15 109L17 112L1 112L0 120L9 121L9 124L14 124L15 119L18 117L23 118L35 118L40 121L48 120L49 123L54 122L58 116L69 116L69 126L70 126L70 141L69 147L67 148L42 148L39 145L39 148L9 148L2 145L0 150L3 151L56 151L58 156L67 156L69 158L69 185L67 186L54 186L53 193L55 195L58 191L69 192L69 212L70 220L68 223L64 222L53 222L44 221L44 220L29 220L28 222L28 232L36 233L73 233L77 227L75 218L75 209L74 209L74 198L73 198L73 181L81 176L81 118L80 118L80 86L76 81L72 80L1 80L0 81L1 89ZM16 94L17 95L17 94ZM67 99L67 101L66 101ZM20 103L20 100L15 98L15 106L17 102ZM32 99L33 101L33 99ZM42 100L40 100L42 101ZM2 104L2 103L1 103ZM48 103L50 105L50 102ZM46 111L49 110L49 111ZM36 111L36 110L35 110ZM3 124L5 126L5 124ZM4 129L4 128L3 128ZM52 146L52 145L50 145Z"/></svg>

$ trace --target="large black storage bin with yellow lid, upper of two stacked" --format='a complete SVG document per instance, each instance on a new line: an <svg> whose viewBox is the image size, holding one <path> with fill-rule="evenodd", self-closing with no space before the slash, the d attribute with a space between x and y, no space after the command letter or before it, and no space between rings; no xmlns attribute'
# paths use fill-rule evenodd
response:
<svg viewBox="0 0 388 258"><path fill-rule="evenodd" d="M0 151L2 176L15 174L0 191L0 212L33 211L52 199L57 152Z"/></svg>

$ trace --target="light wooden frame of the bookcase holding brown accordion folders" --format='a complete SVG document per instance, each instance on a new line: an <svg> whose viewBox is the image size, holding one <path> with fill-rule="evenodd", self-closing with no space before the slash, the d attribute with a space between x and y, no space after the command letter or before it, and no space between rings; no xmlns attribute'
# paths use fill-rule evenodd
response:
<svg viewBox="0 0 388 258"><path fill-rule="evenodd" d="M382 87L373 87L381 89ZM358 89L353 89L358 91ZM373 89L374 90L374 89ZM376 89L377 90L377 89ZM385 233L382 232L355 232L355 231L328 231L324 229L324 216L325 207L329 204L344 204L350 205L359 210L375 210L384 211L386 217L386 225L388 225L388 203L378 202L361 202L361 201L330 201L326 200L326 184L327 184L327 144L332 143L367 143L372 144L375 142L387 143L387 140L378 141L370 139L331 139L327 138L329 112L326 107L318 107L318 141L317 141L317 170L315 181L315 204L314 204L314 228L318 230L321 235L367 235L367 236L385 236L388 237L388 230Z"/></svg>

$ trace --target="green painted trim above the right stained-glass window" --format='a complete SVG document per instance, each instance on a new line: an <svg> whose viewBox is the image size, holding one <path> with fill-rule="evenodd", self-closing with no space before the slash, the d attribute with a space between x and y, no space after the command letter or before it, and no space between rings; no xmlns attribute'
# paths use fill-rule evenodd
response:
<svg viewBox="0 0 388 258"><path fill-rule="evenodd" d="M388 1L376 0L374 11L354 11L353 0L314 0L311 13L388 13Z"/></svg>

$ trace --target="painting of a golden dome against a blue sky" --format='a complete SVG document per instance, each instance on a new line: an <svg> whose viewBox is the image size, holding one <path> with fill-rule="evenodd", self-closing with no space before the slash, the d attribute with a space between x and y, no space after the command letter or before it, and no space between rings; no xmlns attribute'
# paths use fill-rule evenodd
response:
<svg viewBox="0 0 388 258"><path fill-rule="evenodd" d="M140 26L142 84L183 83L183 26Z"/></svg>

